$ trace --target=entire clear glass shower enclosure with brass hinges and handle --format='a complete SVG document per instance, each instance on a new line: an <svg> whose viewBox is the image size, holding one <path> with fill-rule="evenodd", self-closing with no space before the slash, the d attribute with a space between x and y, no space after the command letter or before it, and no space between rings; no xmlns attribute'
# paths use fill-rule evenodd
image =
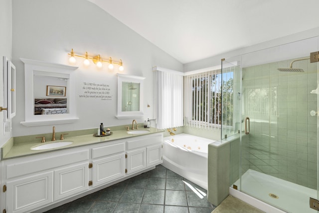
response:
<svg viewBox="0 0 319 213"><path fill-rule="evenodd" d="M225 85L233 82L231 93L222 89L233 100L222 103L230 187L290 213L318 212L311 206L319 186L319 62L309 59L316 51L318 37L222 59Z"/></svg>

